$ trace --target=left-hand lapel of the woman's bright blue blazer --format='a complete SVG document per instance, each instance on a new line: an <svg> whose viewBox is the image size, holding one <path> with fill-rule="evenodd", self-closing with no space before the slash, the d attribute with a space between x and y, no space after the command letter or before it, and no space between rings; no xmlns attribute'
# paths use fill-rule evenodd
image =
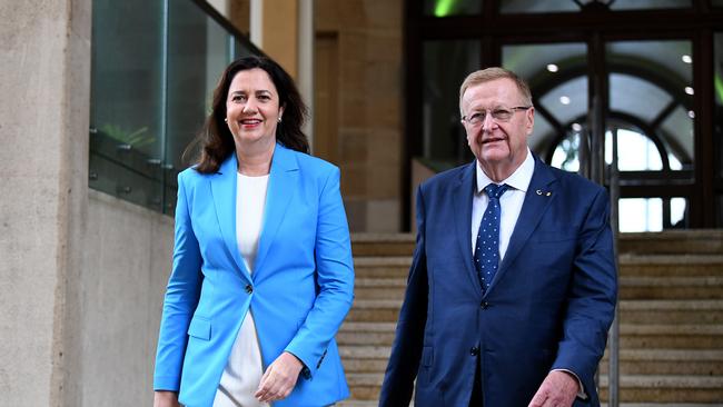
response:
<svg viewBox="0 0 723 407"><path fill-rule="evenodd" d="M221 163L218 172L210 177L211 196L216 208L218 226L221 230L226 248L236 262L237 269L240 270L241 275L250 282L250 274L246 269L244 260L241 259L241 254L238 250L238 242L236 240L237 171L238 165L236 161L236 155L231 153L230 157Z"/></svg>

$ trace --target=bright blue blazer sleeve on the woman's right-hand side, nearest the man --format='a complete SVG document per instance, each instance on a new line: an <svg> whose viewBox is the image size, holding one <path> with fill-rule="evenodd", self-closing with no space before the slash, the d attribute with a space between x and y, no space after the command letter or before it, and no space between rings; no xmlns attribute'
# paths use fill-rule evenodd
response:
<svg viewBox="0 0 723 407"><path fill-rule="evenodd" d="M328 175L319 193L315 261L318 295L304 325L286 347L311 377L354 300L354 265L349 226L339 190L339 169Z"/></svg>

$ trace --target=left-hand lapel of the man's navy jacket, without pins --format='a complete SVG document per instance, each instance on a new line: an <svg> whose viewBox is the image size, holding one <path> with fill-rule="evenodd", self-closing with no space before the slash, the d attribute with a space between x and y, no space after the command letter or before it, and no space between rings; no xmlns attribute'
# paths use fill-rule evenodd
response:
<svg viewBox="0 0 723 407"><path fill-rule="evenodd" d="M467 275L472 279L478 291L482 292L482 285L477 270L475 270L472 259L472 198L475 190L476 181L476 161L465 167L460 175L455 190L453 191L454 206L452 210L455 219L455 235L459 250L462 250L462 259L467 268Z"/></svg>

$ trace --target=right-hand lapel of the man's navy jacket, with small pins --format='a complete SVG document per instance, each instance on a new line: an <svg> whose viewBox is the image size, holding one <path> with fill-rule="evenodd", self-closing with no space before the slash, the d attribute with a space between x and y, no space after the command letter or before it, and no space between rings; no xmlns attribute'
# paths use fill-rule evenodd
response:
<svg viewBox="0 0 723 407"><path fill-rule="evenodd" d="M492 281L487 291L494 289L495 284L503 277L505 271L511 267L519 251L525 246L532 232L537 228L543 215L555 199L554 182L556 181L553 171L537 157L535 157L535 172L532 176L529 188L525 195L525 201L522 205L522 211L515 224L515 229L509 237L509 245L505 257L499 265L497 275ZM547 192L552 192L549 196Z"/></svg>

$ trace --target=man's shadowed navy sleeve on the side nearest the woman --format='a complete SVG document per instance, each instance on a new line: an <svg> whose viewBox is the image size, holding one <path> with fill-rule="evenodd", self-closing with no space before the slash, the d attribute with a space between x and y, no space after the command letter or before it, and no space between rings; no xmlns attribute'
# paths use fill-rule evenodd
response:
<svg viewBox="0 0 723 407"><path fill-rule="evenodd" d="M408 406L419 369L424 328L427 321L427 259L425 252L425 207L422 187L417 190L417 241L407 289L399 311L392 355L384 375L379 407Z"/></svg>

